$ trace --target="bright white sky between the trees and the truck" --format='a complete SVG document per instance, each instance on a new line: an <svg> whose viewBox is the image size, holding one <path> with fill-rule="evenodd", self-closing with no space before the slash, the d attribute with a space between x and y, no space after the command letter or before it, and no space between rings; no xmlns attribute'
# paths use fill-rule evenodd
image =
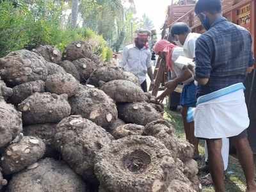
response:
<svg viewBox="0 0 256 192"><path fill-rule="evenodd" d="M163 27L167 8L172 0L134 0L134 3L136 16L141 18L145 13L154 22L157 33L161 33L160 28Z"/></svg>

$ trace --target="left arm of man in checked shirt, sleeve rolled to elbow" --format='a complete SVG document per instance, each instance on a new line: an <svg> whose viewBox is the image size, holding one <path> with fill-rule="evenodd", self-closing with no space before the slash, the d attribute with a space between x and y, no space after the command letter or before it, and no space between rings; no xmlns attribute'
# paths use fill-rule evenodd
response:
<svg viewBox="0 0 256 192"><path fill-rule="evenodd" d="M211 57L212 57L212 40L207 36L200 36L196 40L195 47L195 80L200 85L205 85L209 82L211 75Z"/></svg>

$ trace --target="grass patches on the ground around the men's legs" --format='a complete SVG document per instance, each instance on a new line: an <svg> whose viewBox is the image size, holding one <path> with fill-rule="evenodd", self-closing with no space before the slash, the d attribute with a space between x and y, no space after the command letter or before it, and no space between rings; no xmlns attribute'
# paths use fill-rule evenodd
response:
<svg viewBox="0 0 256 192"><path fill-rule="evenodd" d="M175 126L175 134L178 138L185 139L185 133L180 113L173 112L165 108L164 118ZM204 159L204 141L200 141L200 154ZM198 161L198 166L204 166L204 160ZM199 173L203 177L204 173ZM243 192L246 190L245 178L239 161L230 156L228 161L228 170L225 173L225 185L228 192ZM203 186L204 192L214 192L213 186Z"/></svg>

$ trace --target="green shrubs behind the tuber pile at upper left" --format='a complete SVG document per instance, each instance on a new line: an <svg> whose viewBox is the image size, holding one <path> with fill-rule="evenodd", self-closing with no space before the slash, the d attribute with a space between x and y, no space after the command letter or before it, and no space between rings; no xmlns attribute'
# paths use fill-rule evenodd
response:
<svg viewBox="0 0 256 192"><path fill-rule="evenodd" d="M33 8L22 2L17 7L10 1L0 2L0 57L11 51L31 50L46 44L63 51L70 42L87 40L92 43L95 54L104 61L109 60L104 38L91 29L63 26L62 7L53 2L37 0Z"/></svg>

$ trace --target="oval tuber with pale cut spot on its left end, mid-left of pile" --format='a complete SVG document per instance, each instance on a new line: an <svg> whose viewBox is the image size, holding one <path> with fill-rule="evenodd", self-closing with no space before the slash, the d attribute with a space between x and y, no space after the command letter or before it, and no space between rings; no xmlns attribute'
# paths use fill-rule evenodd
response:
<svg viewBox="0 0 256 192"><path fill-rule="evenodd" d="M34 93L23 100L18 108L22 111L25 125L58 123L71 111L66 94L51 93Z"/></svg>

